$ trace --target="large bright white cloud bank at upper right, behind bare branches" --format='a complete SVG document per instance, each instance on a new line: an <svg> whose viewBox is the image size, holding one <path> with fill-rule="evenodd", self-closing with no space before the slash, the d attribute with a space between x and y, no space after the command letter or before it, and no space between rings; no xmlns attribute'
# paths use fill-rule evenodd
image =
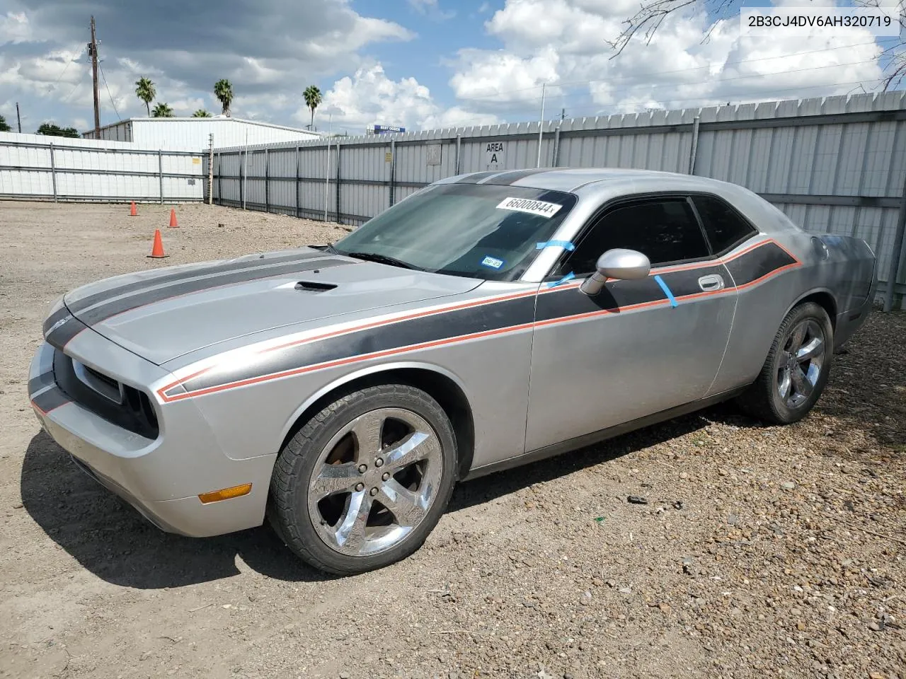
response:
<svg viewBox="0 0 906 679"><path fill-rule="evenodd" d="M550 87L548 93L581 116L843 94L881 76L881 50L867 31L740 37L734 14L703 40L708 15L691 10L667 17L650 43L640 34L611 58L607 41L637 9L638 0L506 0L485 24L502 49L460 50L449 84L477 110L518 110L525 118L542 82L559 85L559 94Z"/></svg>

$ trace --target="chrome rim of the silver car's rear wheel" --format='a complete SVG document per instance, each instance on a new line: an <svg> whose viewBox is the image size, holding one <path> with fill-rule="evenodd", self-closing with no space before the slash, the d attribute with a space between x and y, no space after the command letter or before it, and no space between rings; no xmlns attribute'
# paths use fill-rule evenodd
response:
<svg viewBox="0 0 906 679"><path fill-rule="evenodd" d="M788 408L812 396L824 366L824 330L812 319L797 323L786 336L777 368L777 393Z"/></svg>

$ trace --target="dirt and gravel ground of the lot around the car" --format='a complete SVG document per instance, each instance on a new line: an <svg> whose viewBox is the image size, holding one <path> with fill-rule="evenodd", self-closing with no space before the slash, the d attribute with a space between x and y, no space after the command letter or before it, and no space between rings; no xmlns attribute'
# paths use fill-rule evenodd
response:
<svg viewBox="0 0 906 679"><path fill-rule="evenodd" d="M149 526L28 406L63 292L345 233L169 207L0 202L0 676L906 679L906 314L798 425L718 406L465 483L413 557L326 578L269 529Z"/></svg>

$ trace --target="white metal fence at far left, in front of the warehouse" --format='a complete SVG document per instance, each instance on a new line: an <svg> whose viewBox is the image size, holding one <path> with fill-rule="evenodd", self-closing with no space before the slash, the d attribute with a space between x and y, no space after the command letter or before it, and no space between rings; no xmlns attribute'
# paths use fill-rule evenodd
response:
<svg viewBox="0 0 906 679"><path fill-rule="evenodd" d="M198 151L0 132L0 198L169 203L201 201Z"/></svg>

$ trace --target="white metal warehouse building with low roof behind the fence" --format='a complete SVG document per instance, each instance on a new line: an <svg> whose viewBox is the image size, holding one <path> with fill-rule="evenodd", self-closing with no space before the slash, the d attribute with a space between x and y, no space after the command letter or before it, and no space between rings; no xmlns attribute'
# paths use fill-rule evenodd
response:
<svg viewBox="0 0 906 679"><path fill-rule="evenodd" d="M214 148L321 139L318 132L307 129L227 116L131 118L101 128L100 138L95 136L93 129L83 132L82 138L131 141L140 148L201 150L207 148L208 135L212 133Z"/></svg>

